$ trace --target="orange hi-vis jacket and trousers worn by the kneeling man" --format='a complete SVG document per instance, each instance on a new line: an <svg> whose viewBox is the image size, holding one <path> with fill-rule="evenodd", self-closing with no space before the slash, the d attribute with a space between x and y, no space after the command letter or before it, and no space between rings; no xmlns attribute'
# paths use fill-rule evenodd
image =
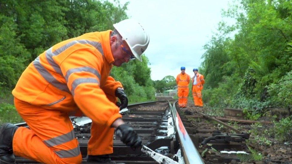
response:
<svg viewBox="0 0 292 164"><path fill-rule="evenodd" d="M60 42L40 54L22 73L12 94L27 122L13 137L16 156L41 163L81 163L69 115L92 119L89 155L113 152L112 123L121 118L109 76L114 58L111 30L86 33Z"/></svg>

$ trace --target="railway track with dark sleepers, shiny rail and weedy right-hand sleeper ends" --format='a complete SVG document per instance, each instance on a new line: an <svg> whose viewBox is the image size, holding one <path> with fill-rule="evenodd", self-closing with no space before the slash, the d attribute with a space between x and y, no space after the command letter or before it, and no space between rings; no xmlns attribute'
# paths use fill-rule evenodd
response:
<svg viewBox="0 0 292 164"><path fill-rule="evenodd" d="M238 161L236 155L220 151L248 151L244 143L248 134L230 134L228 129L218 131L220 129L203 114L177 109L175 102L171 104L162 100L129 105L122 114L123 120L141 136L143 145L179 163L229 163ZM71 117L71 120L80 143L82 163L86 163L91 120L87 117ZM27 126L25 123L16 125ZM118 136L114 136L113 140L114 153L110 157L115 162L157 163L140 149L134 151L125 146ZM16 163L37 162L16 157Z"/></svg>

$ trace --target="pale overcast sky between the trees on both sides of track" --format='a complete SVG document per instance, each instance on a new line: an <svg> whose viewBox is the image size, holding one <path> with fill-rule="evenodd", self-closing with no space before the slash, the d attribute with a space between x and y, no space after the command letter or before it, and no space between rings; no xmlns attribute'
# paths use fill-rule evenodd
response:
<svg viewBox="0 0 292 164"><path fill-rule="evenodd" d="M151 79L186 72L193 76L198 68L205 45L216 32L222 9L227 9L231 0L120 0L130 2L127 15L136 19L149 33L150 42L145 55L150 61ZM199 70L200 71L200 70Z"/></svg>

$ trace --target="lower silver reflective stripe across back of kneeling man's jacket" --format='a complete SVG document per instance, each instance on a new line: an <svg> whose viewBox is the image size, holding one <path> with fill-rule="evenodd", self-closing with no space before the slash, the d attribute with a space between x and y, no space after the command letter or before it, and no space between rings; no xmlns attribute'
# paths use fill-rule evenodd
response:
<svg viewBox="0 0 292 164"><path fill-rule="evenodd" d="M42 75L42 77L54 87L60 89L61 91L69 92L69 89L66 84L58 82L54 76L51 75L40 63L39 56L34 60L34 67Z"/></svg>

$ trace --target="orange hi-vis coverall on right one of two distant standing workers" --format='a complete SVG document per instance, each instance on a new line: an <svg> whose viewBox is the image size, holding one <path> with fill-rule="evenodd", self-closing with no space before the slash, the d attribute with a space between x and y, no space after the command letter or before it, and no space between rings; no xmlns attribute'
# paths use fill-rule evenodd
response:
<svg viewBox="0 0 292 164"><path fill-rule="evenodd" d="M192 92L193 92L193 98L194 98L194 104L195 106L203 106L203 100L202 100L202 89L203 85L205 83L204 76L197 73L197 83L194 85L194 79L195 76L193 77L192 80Z"/></svg>

